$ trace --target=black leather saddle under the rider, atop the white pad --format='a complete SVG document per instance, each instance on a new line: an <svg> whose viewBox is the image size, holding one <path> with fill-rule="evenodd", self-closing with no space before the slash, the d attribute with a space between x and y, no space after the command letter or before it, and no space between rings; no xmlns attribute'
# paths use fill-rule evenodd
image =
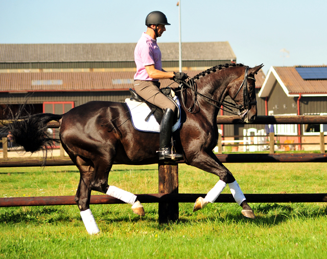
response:
<svg viewBox="0 0 327 259"><path fill-rule="evenodd" d="M159 108L159 107L153 105L152 103L146 101L144 98L139 96L133 89L130 88L129 92L131 93L130 100L137 101L137 102L145 102L147 104L147 106L151 109L150 113L145 118L145 121L147 121L150 118L150 116L153 114L155 120L160 124L161 120L162 120L162 116L164 116L164 111L161 108ZM174 122L173 122L173 123L175 123L180 117L180 113L179 113L177 103L173 99L173 94L175 95L175 93L169 87L160 89L160 92L163 93L165 96L167 96L169 99L171 99L172 102L176 105L177 109L175 109ZM173 92L173 94L172 94L172 92Z"/></svg>

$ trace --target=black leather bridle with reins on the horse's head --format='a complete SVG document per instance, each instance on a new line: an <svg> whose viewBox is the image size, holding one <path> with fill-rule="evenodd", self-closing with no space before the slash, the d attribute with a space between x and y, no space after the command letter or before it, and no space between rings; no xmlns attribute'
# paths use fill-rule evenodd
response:
<svg viewBox="0 0 327 259"><path fill-rule="evenodd" d="M185 86L185 87L190 88L192 90L192 97L193 97L194 106L195 106L195 102L196 102L196 94L198 94L201 97L203 97L206 100L206 102L208 102L210 105L212 105L212 106L214 106L214 107L216 107L218 109L221 109L221 110L223 110L225 112L236 114L236 115L243 118L245 116L245 114L248 113L251 106L256 105L256 101L250 101L249 92L247 90L247 80L252 79L255 82L255 79L254 79L254 77L249 77L248 73L249 73L249 67L246 66L245 67L245 73L244 73L244 80L243 80L239 90L236 92L235 96L233 98L231 98L232 100L234 100L236 98L236 96L239 94L239 92L241 91L242 87L243 87L243 104L242 105L236 105L235 103L231 103L231 102L225 101L225 100L221 102L221 101L215 100L215 99L213 99L211 97L208 97L208 96L206 96L204 94L199 93L198 91L195 90L194 81L192 79L190 79L188 81L188 83L186 83L184 81L181 81L181 84L179 85L180 88L181 88L181 95L180 95L181 96L181 102L183 103L183 106L185 107L185 109L188 112L190 112L190 113L195 112L195 107L192 110L193 105L191 105L191 107L189 107L189 108L186 108L186 106L185 106L185 100L184 100L184 96L183 96L183 89L184 89L184 86ZM218 103L221 107L224 107L225 109L228 109L228 110L224 110L223 108L218 107L217 105L214 105L214 103L210 102L209 100ZM236 109L240 110L240 112L239 113L235 112L230 108L236 108Z"/></svg>

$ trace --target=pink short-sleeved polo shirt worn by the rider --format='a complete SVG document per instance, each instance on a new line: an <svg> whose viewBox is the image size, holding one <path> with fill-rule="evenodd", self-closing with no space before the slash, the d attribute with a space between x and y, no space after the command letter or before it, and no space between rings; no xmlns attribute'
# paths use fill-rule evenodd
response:
<svg viewBox="0 0 327 259"><path fill-rule="evenodd" d="M145 66L153 65L154 68L161 71L161 51L157 41L146 33L143 33L138 40L134 50L134 60L136 64L136 73L134 80L159 81L149 77Z"/></svg>

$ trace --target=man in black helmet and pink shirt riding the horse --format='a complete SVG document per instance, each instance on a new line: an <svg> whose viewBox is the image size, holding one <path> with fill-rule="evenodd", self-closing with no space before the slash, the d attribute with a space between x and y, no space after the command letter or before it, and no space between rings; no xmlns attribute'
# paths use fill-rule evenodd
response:
<svg viewBox="0 0 327 259"><path fill-rule="evenodd" d="M166 15L159 11L151 12L147 15L145 24L147 31L142 34L134 50L134 89L145 100L164 110L160 124L159 160L181 159L182 154L173 152L170 148L176 106L159 91L159 79L185 80L188 76L183 72L167 72L161 67L161 51L156 39L166 31L165 25L170 25Z"/></svg>

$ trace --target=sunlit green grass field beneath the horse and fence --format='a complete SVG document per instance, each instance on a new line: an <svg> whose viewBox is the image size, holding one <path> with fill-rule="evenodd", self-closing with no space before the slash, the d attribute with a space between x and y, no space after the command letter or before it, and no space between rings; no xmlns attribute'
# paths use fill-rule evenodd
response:
<svg viewBox="0 0 327 259"><path fill-rule="evenodd" d="M326 193L322 163L226 164L244 193ZM75 195L76 167L0 168L0 196ZM179 192L205 193L215 175L179 165ZM157 193L156 165L114 166L109 184ZM230 193L226 187L223 193ZM98 194L98 193L93 193ZM101 234L89 236L77 205L0 208L0 258L327 258L325 203L252 203L245 219L236 203L192 212L179 204L179 221L158 224L157 204L146 216L128 204L91 205Z"/></svg>

